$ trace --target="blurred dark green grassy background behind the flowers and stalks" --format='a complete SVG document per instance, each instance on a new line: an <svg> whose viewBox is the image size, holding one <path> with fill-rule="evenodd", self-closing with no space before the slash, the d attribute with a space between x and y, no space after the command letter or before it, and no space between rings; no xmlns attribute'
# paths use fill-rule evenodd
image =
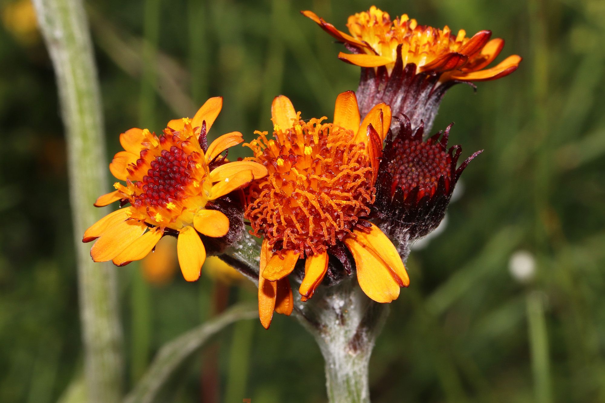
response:
<svg viewBox="0 0 605 403"><path fill-rule="evenodd" d="M224 96L211 138L270 129L277 94L303 117L331 117L359 71L338 61L341 45L298 11L342 29L370 5L89 2L107 161L125 129L160 131L209 96ZM605 2L376 5L469 36L492 30L506 39L498 60L524 60L476 93L458 85L445 96L434 130L456 122L450 139L463 156L485 152L466 169L445 230L411 254L411 286L392 304L370 364L373 401L605 402ZM82 365L63 128L29 2L0 8L0 401L54 402ZM230 156L246 149L237 152ZM526 269L534 261L534 275L511 273L518 251L528 252L521 256ZM190 284L168 274L147 283L140 265L119 271L128 388L164 342L225 301L256 298L245 282ZM295 318L223 332L182 369L165 401L243 398L326 401L323 359Z"/></svg>

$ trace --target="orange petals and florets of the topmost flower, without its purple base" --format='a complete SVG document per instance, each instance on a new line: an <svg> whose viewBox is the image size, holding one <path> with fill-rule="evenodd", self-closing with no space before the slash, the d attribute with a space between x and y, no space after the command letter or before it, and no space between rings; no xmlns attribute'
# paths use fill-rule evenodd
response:
<svg viewBox="0 0 605 403"><path fill-rule="evenodd" d="M388 13L370 7L370 10L356 13L348 18L346 34L312 11L302 11L325 31L352 48L355 54L339 53L343 61L361 67L387 68L391 74L401 57L402 64L413 63L416 73L430 71L443 74L441 80L482 81L506 76L521 61L518 55L507 57L495 67L483 70L500 54L504 41L492 39L491 31L483 30L466 37L465 30L454 34L449 27L443 29L418 25L407 14L391 20Z"/></svg>

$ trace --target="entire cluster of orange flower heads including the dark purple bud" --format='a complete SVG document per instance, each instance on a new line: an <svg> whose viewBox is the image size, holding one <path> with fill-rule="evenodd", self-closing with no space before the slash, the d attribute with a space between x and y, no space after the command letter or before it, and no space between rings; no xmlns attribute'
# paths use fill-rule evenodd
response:
<svg viewBox="0 0 605 403"><path fill-rule="evenodd" d="M447 148L449 128L423 139L425 125L451 85L505 76L520 57L482 70L503 46L502 39L489 41L489 31L466 38L463 31L417 25L407 15L391 21L375 7L350 17L350 35L303 14L353 51L339 57L362 67L357 95L339 94L332 123L302 120L287 97L276 97L272 137L255 132L259 137L245 144L253 156L235 162L223 152L244 141L241 133L207 140L221 97L209 99L192 119L171 120L159 136L138 128L122 133L124 151L110 171L126 184L116 182L95 205L128 206L85 232L83 241L96 240L93 260L123 266L174 235L183 276L195 281L204 244L209 253L236 244L245 219L250 232L263 237L258 303L266 328L273 312L292 312L288 276L299 260L302 301L326 275L351 274L353 264L359 286L374 301L389 303L408 286L407 245L439 224L476 155L457 167L460 147Z"/></svg>

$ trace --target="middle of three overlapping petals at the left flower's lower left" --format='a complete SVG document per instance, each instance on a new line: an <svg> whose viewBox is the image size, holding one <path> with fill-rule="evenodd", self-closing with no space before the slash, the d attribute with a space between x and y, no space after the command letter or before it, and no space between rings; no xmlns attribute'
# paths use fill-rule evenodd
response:
<svg viewBox="0 0 605 403"><path fill-rule="evenodd" d="M147 229L139 220L119 221L106 229L90 249L94 261L108 261L126 249L132 241L143 235Z"/></svg>

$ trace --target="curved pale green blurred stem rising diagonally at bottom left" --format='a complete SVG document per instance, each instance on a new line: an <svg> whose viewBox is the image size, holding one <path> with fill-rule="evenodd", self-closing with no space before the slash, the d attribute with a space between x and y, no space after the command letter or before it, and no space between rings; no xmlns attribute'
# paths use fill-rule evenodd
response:
<svg viewBox="0 0 605 403"><path fill-rule="evenodd" d="M240 319L252 319L257 315L256 306L241 304L168 342L159 350L139 384L126 396L125 403L153 402L175 370L209 338L229 324Z"/></svg>

